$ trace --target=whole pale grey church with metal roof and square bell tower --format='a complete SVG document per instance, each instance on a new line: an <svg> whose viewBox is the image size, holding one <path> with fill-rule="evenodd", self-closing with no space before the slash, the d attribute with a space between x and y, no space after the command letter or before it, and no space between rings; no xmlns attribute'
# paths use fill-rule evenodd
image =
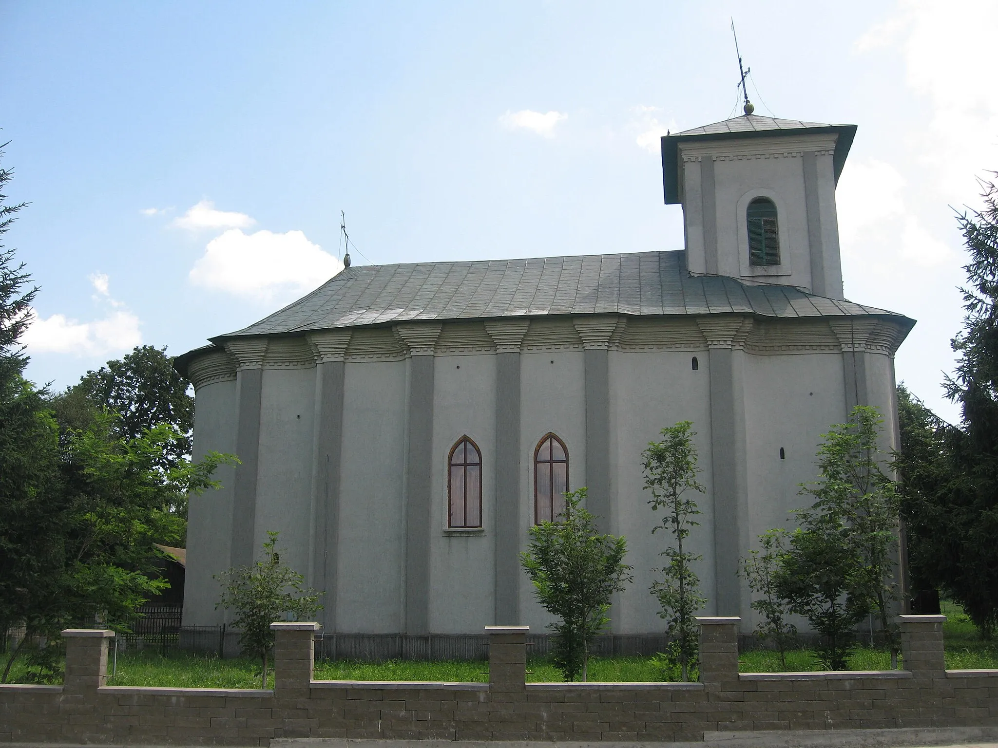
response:
<svg viewBox="0 0 998 748"><path fill-rule="evenodd" d="M223 622L213 574L279 531L327 632L543 630L518 555L585 486L634 566L613 632L661 632L667 538L641 454L689 420L704 613L749 630L739 560L806 501L820 434L869 404L896 443L914 322L843 298L834 190L854 132L745 116L663 138L680 250L348 267L181 356L195 456L242 461L191 501L185 625Z"/></svg>

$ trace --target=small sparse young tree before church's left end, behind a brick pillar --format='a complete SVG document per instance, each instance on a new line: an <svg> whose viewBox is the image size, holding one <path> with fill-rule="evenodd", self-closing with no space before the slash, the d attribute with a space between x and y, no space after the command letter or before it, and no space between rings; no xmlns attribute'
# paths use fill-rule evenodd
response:
<svg viewBox="0 0 998 748"><path fill-rule="evenodd" d="M267 531L263 553L251 566L231 566L216 574L222 597L216 608L234 609L233 625L241 630L240 646L262 661L260 683L266 688L266 655L273 647L270 624L290 616L313 615L322 605L322 592L304 588L305 577L280 561L277 533Z"/></svg>

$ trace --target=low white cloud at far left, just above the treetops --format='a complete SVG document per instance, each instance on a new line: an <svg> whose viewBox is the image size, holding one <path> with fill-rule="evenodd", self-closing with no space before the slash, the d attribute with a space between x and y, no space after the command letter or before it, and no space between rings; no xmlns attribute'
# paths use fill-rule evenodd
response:
<svg viewBox="0 0 998 748"><path fill-rule="evenodd" d="M34 309L29 314L33 321L21 338L29 353L100 356L142 344L139 318L129 311L114 311L93 322L79 322L65 314L42 319Z"/></svg>

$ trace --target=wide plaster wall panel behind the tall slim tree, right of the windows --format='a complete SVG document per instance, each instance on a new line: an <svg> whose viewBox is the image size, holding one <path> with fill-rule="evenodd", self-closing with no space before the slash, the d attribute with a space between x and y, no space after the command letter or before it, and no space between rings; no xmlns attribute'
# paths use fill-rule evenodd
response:
<svg viewBox="0 0 998 748"><path fill-rule="evenodd" d="M692 359L697 356L698 371ZM616 522L611 532L628 542L626 562L634 566L634 583L618 595L612 608L612 628L618 633L653 633L663 629L658 600L649 592L656 578L653 568L669 544L666 531L652 535L661 522L660 513L648 505L644 490L641 454L649 442L659 441L660 432L678 421L693 421L700 455L700 482L707 493L699 500L703 514L695 518L688 539L690 548L703 554L696 571L701 589L714 598L714 512L711 505L711 372L708 351L611 351L610 428L612 486L616 495ZM713 614L713 608L705 611Z"/></svg>

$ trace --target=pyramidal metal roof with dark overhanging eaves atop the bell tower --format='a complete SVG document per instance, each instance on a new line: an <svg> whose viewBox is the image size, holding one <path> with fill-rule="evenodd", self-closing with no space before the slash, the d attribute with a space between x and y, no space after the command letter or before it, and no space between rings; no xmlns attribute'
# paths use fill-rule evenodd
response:
<svg viewBox="0 0 998 748"><path fill-rule="evenodd" d="M662 179L666 192L666 203L680 202L679 194L679 145L698 141L725 141L745 138L778 138L794 135L835 134L835 154L832 159L835 167L835 183L845 165L852 139L856 134L855 125L825 125L819 122L800 120L780 120L775 117L742 115L731 120L723 120L712 125L684 130L676 135L662 138Z"/></svg>

